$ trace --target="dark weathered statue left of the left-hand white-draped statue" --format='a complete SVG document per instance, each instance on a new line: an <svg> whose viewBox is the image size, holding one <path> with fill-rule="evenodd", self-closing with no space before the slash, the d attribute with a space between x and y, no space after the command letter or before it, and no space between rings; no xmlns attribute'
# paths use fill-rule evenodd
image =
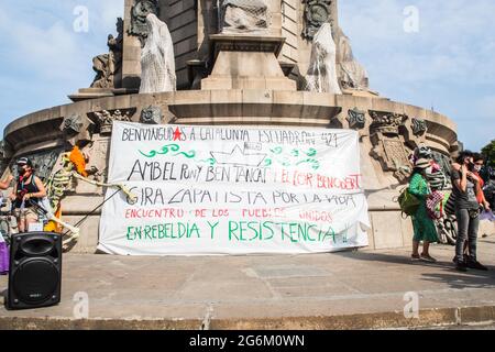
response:
<svg viewBox="0 0 495 352"><path fill-rule="evenodd" d="M123 21L117 20L118 36L108 36L108 54L98 55L92 59L92 69L97 73L91 88L118 88L120 82L116 81L117 74L122 69L122 43Z"/></svg>

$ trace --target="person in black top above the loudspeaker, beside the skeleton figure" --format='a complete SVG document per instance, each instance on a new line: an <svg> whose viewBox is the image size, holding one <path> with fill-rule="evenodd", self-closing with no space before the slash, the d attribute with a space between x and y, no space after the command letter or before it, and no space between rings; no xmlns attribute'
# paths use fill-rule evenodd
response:
<svg viewBox="0 0 495 352"><path fill-rule="evenodd" d="M46 197L46 189L40 177L34 175L33 164L29 158L21 157L16 165L19 179L10 199L18 219L19 232L28 232L30 223L38 221L33 202L38 204L43 197Z"/></svg>

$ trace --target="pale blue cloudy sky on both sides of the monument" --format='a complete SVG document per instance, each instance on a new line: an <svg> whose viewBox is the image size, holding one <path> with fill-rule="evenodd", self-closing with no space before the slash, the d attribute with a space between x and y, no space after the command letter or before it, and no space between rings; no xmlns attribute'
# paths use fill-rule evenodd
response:
<svg viewBox="0 0 495 352"><path fill-rule="evenodd" d="M448 116L473 151L495 139L494 14L493 0L339 1L371 88ZM123 0L0 0L0 129L89 87L122 15Z"/></svg>

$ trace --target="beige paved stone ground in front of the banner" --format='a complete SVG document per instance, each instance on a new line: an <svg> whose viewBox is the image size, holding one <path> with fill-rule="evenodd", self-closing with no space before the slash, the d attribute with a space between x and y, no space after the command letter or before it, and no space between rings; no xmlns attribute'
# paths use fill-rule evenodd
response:
<svg viewBox="0 0 495 352"><path fill-rule="evenodd" d="M66 255L62 304L24 311L0 307L0 329L380 329L493 323L495 237L481 239L479 252L488 272L455 272L453 248L446 245L432 249L437 264L411 263L408 249L297 256ZM4 276L2 288L7 288ZM74 317L74 297L80 292L89 297L85 320ZM404 317L408 292L418 294L418 319Z"/></svg>

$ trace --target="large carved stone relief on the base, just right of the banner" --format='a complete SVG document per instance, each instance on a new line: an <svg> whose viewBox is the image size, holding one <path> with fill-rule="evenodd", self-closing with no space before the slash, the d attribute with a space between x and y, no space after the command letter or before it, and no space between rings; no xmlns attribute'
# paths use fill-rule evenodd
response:
<svg viewBox="0 0 495 352"><path fill-rule="evenodd" d="M384 170L393 172L400 182L405 180L411 165L400 128L404 128L407 116L373 110L370 110L370 116L373 119L370 125L371 156L382 164Z"/></svg>

